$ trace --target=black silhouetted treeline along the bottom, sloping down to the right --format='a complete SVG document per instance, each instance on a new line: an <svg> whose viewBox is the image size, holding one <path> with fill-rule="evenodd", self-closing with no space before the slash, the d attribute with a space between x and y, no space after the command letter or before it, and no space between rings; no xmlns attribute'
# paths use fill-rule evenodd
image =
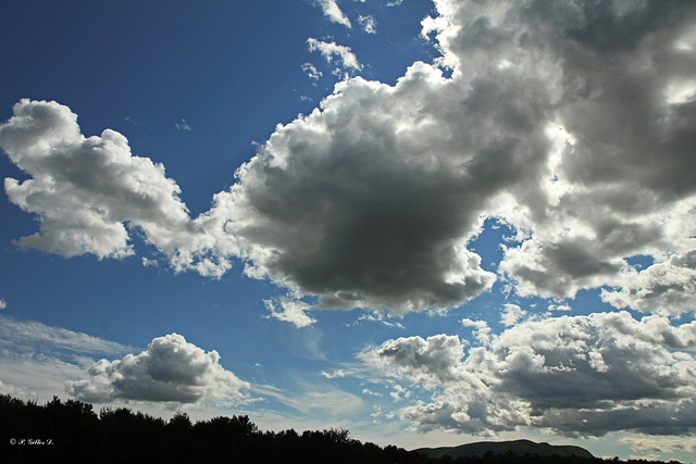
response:
<svg viewBox="0 0 696 464"><path fill-rule="evenodd" d="M345 429L260 431L247 416L214 417L192 424L187 414L169 422L128 409L103 409L58 398L40 406L0 394L0 461L14 463L249 463L249 464L607 464L581 457L486 454L427 459L388 446L362 443ZM648 461L627 463L649 464Z"/></svg>

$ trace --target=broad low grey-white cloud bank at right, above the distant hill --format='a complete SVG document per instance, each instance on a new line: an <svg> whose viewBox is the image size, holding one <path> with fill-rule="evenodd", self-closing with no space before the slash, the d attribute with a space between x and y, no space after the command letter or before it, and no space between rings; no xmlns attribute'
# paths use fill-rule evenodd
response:
<svg viewBox="0 0 696 464"><path fill-rule="evenodd" d="M526 321L468 349L457 336L399 338L361 358L427 392L400 409L422 430L669 435L696 429L694 347L696 323L621 312Z"/></svg>

